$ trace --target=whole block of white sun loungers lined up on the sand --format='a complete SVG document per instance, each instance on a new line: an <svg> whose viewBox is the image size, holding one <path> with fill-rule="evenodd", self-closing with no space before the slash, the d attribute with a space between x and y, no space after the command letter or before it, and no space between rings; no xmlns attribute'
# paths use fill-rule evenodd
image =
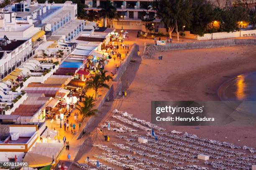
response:
<svg viewBox="0 0 256 170"><path fill-rule="evenodd" d="M95 158L120 168L131 170L159 170L160 168L167 170L171 164L175 165L172 167L175 170L209 170L209 168L198 165L182 166L185 162L197 164L199 160L196 158L199 154L208 155L212 162L205 161L205 165L212 166L215 170L250 170L251 165L256 163L255 155L245 156L245 152L237 150L241 147L232 143L201 138L195 134L176 130L172 130L170 133L163 132L164 128L133 117L127 112L113 110L113 113L112 117L117 121L106 120L113 127L110 130L118 133L129 133L129 136L117 134L116 138L125 140L126 143L112 143L112 145L119 150L138 156L124 154L122 151L115 155L118 151L108 146L97 144L93 144L93 146L106 152L102 153L103 155L95 155ZM99 127L107 128L106 124L99 125ZM154 136L150 133L151 128L155 130ZM135 134L136 129L148 132L148 134ZM148 142L138 143L138 138L146 138ZM244 146L242 149L249 150L252 154L255 153L255 148ZM156 161L149 161L150 159Z"/></svg>

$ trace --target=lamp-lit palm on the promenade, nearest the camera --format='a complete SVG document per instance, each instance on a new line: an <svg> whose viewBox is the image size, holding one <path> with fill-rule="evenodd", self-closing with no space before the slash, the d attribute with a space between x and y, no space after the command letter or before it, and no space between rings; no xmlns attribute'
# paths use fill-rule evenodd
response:
<svg viewBox="0 0 256 170"><path fill-rule="evenodd" d="M95 100L92 96L85 95L84 101L76 106L79 114L82 115L82 121L84 118L96 116L97 109L93 109Z"/></svg>

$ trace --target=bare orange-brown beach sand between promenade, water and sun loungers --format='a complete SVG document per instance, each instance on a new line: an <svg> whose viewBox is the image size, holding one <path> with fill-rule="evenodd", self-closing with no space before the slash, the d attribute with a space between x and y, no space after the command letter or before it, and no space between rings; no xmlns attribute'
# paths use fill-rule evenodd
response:
<svg viewBox="0 0 256 170"><path fill-rule="evenodd" d="M163 56L162 61L157 60L159 55ZM150 121L151 100L219 100L217 91L220 85L236 75L256 70L255 56L256 47L252 46L158 52L151 60L141 60L140 57L134 56L136 61L129 64L121 78L123 89L128 92L127 96L123 100L106 102L99 111L93 125L88 128L91 135L85 141L84 154L79 158L79 162L83 163L87 156L94 159L94 154L102 154L102 151L92 148L92 143L108 145L111 148L114 148L111 145L113 142L123 143L115 138L117 133L109 133L109 143L104 142L102 136L96 133L98 123L114 120L113 109L126 111L134 117ZM203 138L234 143L241 147L256 147L256 125L253 124L236 127L164 128L167 132L177 130ZM204 164L200 162L197 165Z"/></svg>

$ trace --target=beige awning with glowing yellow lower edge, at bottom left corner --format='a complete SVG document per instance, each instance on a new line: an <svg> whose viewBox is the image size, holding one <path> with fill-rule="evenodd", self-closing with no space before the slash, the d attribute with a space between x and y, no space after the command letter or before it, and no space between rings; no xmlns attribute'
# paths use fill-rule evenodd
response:
<svg viewBox="0 0 256 170"><path fill-rule="evenodd" d="M52 158L28 152L26 153L23 162L28 163L28 165L32 168L36 168L51 165Z"/></svg>

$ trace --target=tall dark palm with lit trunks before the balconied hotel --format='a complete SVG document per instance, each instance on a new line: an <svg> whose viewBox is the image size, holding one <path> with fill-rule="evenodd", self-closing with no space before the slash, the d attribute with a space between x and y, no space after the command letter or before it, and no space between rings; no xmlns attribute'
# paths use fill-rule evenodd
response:
<svg viewBox="0 0 256 170"><path fill-rule="evenodd" d="M97 6L97 8L101 9L99 13L100 16L102 16L105 19L105 27L107 27L108 18L110 19L110 25L112 27L112 20L118 17L116 7L113 6L113 2L107 0L104 4Z"/></svg>

